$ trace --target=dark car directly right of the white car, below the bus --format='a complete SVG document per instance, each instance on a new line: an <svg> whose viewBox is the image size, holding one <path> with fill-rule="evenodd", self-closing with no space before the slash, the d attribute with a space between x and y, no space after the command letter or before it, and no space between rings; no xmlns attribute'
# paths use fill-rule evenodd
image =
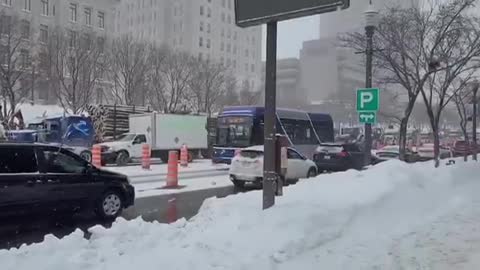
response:
<svg viewBox="0 0 480 270"><path fill-rule="evenodd" d="M346 171L349 169L361 170L364 165L364 153L354 143L321 144L313 156L318 171Z"/></svg>

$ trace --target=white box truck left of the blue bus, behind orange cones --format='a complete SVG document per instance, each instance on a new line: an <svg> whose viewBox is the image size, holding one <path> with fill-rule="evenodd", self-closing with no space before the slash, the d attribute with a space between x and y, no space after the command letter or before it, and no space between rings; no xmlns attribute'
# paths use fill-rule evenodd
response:
<svg viewBox="0 0 480 270"><path fill-rule="evenodd" d="M189 160L208 155L207 116L145 113L129 116L129 133L101 144L102 163L126 165L141 159L142 145L149 144L152 157L168 161L168 152L186 145Z"/></svg>

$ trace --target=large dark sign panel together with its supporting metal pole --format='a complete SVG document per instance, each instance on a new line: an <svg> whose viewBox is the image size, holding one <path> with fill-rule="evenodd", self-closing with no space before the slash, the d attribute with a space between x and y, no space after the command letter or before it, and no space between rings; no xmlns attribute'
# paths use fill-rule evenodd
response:
<svg viewBox="0 0 480 270"><path fill-rule="evenodd" d="M277 22L314 14L346 9L350 0L235 0L235 22L248 27L267 24L267 54L265 64L264 168L263 209L275 204L275 184L280 179L276 157L276 77Z"/></svg>

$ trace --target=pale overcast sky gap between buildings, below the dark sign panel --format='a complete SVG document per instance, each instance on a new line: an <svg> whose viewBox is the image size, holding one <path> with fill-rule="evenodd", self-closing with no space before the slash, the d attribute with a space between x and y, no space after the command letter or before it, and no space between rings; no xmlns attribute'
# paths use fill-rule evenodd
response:
<svg viewBox="0 0 480 270"><path fill-rule="evenodd" d="M265 27L263 31L263 59L265 59ZM278 58L298 57L302 43L317 39L319 35L318 16L310 16L278 25Z"/></svg>

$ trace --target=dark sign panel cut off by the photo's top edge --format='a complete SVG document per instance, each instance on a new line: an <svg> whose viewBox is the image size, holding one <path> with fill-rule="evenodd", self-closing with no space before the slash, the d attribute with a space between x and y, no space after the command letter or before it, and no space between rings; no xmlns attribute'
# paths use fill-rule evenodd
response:
<svg viewBox="0 0 480 270"><path fill-rule="evenodd" d="M346 9L350 0L235 0L235 20L247 27Z"/></svg>

